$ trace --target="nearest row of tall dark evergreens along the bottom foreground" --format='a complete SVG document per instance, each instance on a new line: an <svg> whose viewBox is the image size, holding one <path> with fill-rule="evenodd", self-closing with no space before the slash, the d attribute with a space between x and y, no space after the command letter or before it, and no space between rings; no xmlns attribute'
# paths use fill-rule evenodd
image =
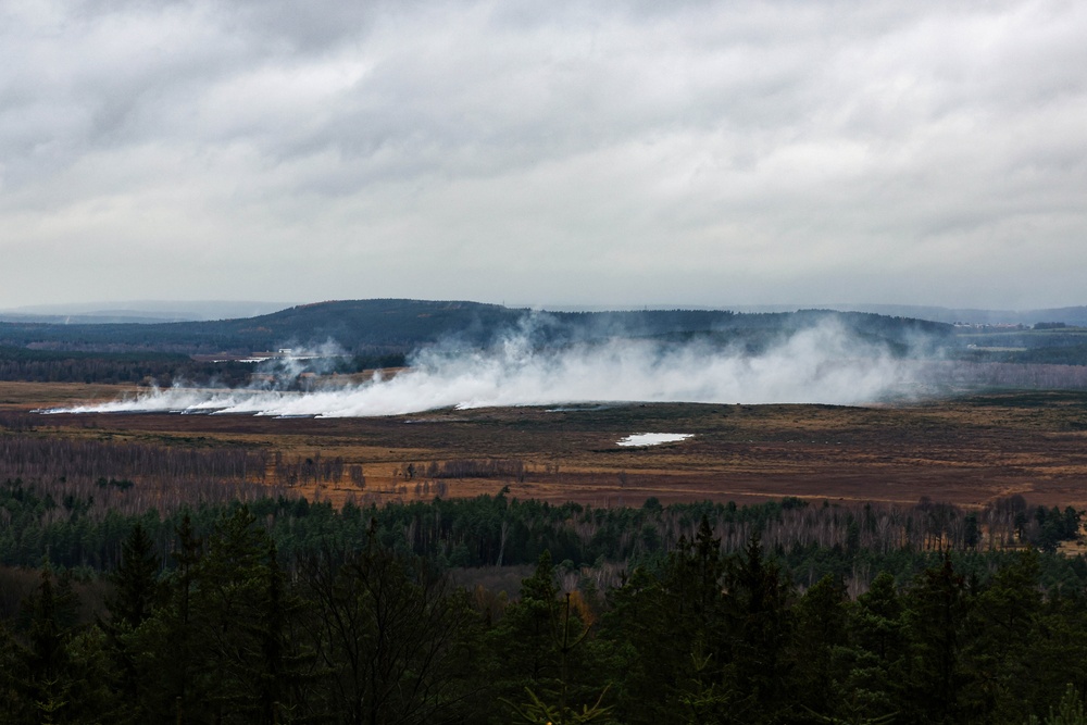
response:
<svg viewBox="0 0 1087 725"><path fill-rule="evenodd" d="M934 553L851 597L708 520L615 586L549 551L513 598L335 539L284 566L246 507L163 559L134 527L102 583L46 567L0 621L0 720L38 723L1083 722L1087 600L1052 555ZM11 586L0 587L4 591Z"/></svg>

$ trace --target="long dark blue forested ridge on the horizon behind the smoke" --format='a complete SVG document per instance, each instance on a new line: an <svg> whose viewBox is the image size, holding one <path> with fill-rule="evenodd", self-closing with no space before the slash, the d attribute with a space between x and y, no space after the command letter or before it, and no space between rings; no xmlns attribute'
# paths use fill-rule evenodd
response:
<svg viewBox="0 0 1087 725"><path fill-rule="evenodd" d="M565 342L609 336L686 338L711 335L759 340L834 318L855 334L892 345L917 338L947 340L950 325L869 313L801 311L739 314L724 310L530 313L478 302L353 300L307 304L272 314L215 322L55 325L0 323L0 346L73 351L238 353L280 347L320 346L333 340L355 354L403 354L454 338L486 345L496 336L528 327L534 340ZM754 340L754 342L752 342Z"/></svg>

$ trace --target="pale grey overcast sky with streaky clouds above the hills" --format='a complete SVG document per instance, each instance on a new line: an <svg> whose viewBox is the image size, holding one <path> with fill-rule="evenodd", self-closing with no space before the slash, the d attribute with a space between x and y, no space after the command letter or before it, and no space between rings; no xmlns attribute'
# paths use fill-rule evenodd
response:
<svg viewBox="0 0 1087 725"><path fill-rule="evenodd" d="M1087 2L0 0L0 308L1087 304Z"/></svg>

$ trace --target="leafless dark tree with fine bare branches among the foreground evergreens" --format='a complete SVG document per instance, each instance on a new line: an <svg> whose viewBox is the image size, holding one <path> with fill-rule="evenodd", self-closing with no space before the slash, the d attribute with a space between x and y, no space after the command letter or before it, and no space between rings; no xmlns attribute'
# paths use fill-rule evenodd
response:
<svg viewBox="0 0 1087 725"><path fill-rule="evenodd" d="M476 636L463 595L425 561L382 547L326 550L304 571L317 712L343 722L430 722L457 710Z"/></svg>

